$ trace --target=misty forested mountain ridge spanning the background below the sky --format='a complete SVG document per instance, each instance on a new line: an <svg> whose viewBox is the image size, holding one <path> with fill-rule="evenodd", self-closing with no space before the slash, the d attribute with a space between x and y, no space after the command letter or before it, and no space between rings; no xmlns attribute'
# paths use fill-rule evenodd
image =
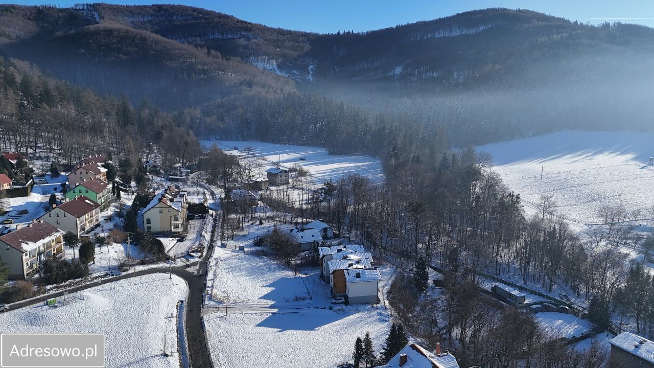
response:
<svg viewBox="0 0 654 368"><path fill-rule="evenodd" d="M251 106L300 90L431 132L442 124L458 147L570 128L651 130L653 35L511 9L318 34L182 5L0 6L3 55L133 103L209 109L218 123L199 134L239 119L254 126L265 114Z"/></svg>

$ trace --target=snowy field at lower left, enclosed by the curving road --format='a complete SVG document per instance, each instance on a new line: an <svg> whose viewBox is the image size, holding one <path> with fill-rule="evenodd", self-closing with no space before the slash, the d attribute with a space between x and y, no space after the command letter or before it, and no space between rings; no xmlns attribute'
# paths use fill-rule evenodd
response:
<svg viewBox="0 0 654 368"><path fill-rule="evenodd" d="M107 367L179 367L175 316L187 291L174 275L129 278L80 291L66 306L37 304L0 314L0 331L104 333Z"/></svg>

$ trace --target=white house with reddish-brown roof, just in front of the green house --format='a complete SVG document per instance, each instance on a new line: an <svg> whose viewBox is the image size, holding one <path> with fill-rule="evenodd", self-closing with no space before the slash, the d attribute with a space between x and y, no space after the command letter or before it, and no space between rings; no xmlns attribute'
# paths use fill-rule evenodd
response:
<svg viewBox="0 0 654 368"><path fill-rule="evenodd" d="M100 223L100 205L85 196L78 196L52 209L39 218L64 232L80 236Z"/></svg>

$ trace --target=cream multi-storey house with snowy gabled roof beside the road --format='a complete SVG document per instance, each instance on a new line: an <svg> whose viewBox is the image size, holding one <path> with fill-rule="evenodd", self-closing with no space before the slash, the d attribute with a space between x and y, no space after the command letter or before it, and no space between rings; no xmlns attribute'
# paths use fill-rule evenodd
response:
<svg viewBox="0 0 654 368"><path fill-rule="evenodd" d="M154 234L181 234L186 228L186 192L168 187L143 209L143 229Z"/></svg>

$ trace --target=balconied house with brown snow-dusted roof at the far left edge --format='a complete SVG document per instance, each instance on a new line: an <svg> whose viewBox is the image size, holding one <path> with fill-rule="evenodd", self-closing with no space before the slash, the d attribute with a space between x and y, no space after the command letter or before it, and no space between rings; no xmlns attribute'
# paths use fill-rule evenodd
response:
<svg viewBox="0 0 654 368"><path fill-rule="evenodd" d="M44 221L0 236L0 261L7 263L9 278L24 280L39 272L46 259L63 251L60 229Z"/></svg>

